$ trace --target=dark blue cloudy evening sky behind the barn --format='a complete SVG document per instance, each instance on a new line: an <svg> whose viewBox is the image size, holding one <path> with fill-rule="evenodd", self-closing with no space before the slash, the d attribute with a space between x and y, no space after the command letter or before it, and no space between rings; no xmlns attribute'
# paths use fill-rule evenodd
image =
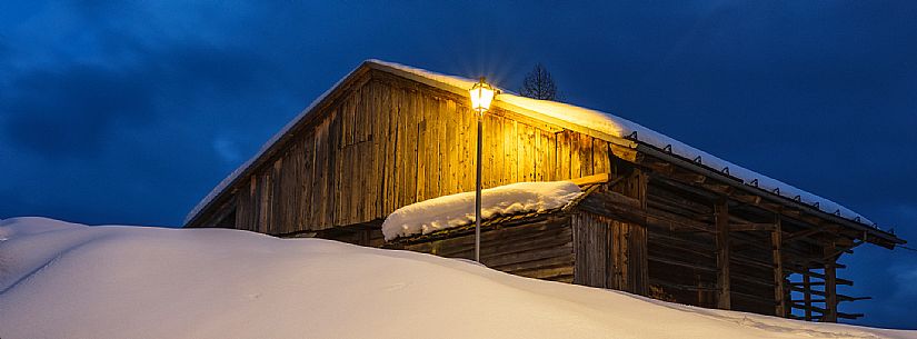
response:
<svg viewBox="0 0 917 339"><path fill-rule="evenodd" d="M180 226L379 58L510 89L542 62L568 102L917 241L917 1L273 3L0 2L0 218ZM844 311L917 328L917 252L844 262L876 298Z"/></svg>

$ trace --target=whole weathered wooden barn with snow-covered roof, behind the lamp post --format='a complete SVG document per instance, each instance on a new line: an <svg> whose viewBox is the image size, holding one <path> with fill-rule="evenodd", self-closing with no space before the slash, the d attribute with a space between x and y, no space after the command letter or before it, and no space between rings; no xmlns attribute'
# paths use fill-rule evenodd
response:
<svg viewBox="0 0 917 339"><path fill-rule="evenodd" d="M475 189L472 81L370 60L223 180L186 227L320 237L472 258L474 225L386 242L398 208ZM484 220L507 272L817 321L864 299L838 259L895 235L827 199L581 108L499 96L484 117L484 187L571 180L550 211Z"/></svg>

